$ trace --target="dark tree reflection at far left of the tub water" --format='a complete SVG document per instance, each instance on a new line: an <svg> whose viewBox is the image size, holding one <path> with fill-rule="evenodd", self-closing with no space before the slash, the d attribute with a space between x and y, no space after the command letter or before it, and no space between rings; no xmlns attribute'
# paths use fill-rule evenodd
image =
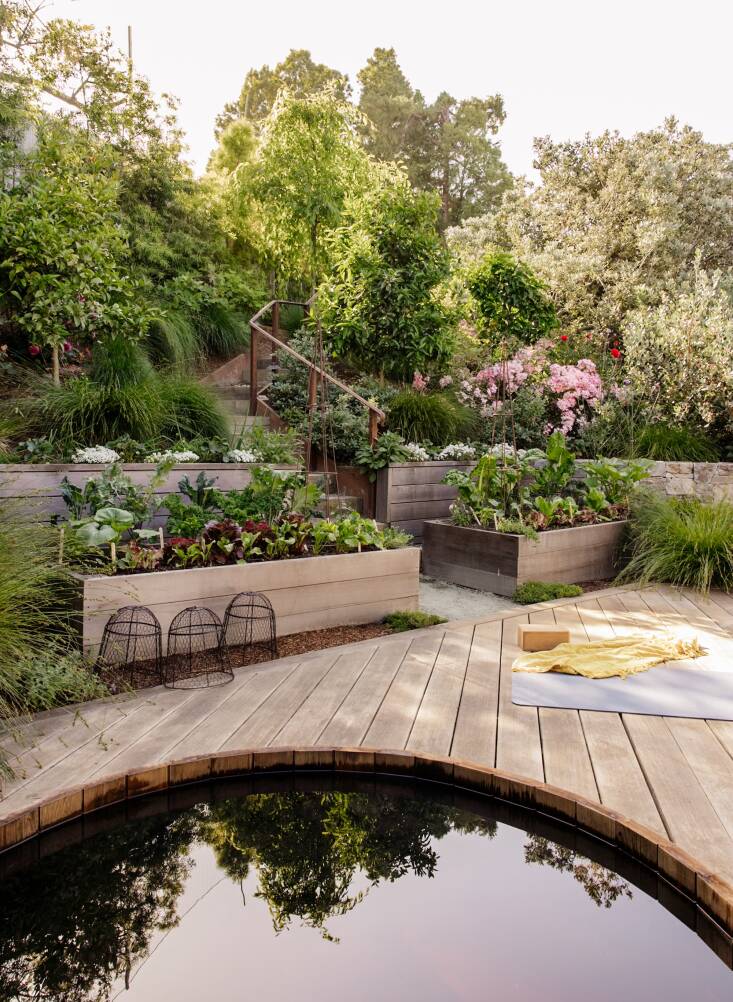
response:
<svg viewBox="0 0 733 1002"><path fill-rule="evenodd" d="M97 836L0 884L0 998L107 999L177 922L195 819Z"/></svg>

